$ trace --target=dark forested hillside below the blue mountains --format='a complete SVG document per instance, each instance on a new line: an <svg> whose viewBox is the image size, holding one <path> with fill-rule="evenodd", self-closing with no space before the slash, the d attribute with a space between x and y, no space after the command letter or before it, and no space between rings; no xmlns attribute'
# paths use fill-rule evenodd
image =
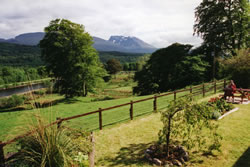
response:
<svg viewBox="0 0 250 167"><path fill-rule="evenodd" d="M4 66L41 66L44 62L40 57L40 48L37 46L18 45L0 42L0 65ZM101 62L105 63L111 58L121 63L135 62L142 53L99 52Z"/></svg>

